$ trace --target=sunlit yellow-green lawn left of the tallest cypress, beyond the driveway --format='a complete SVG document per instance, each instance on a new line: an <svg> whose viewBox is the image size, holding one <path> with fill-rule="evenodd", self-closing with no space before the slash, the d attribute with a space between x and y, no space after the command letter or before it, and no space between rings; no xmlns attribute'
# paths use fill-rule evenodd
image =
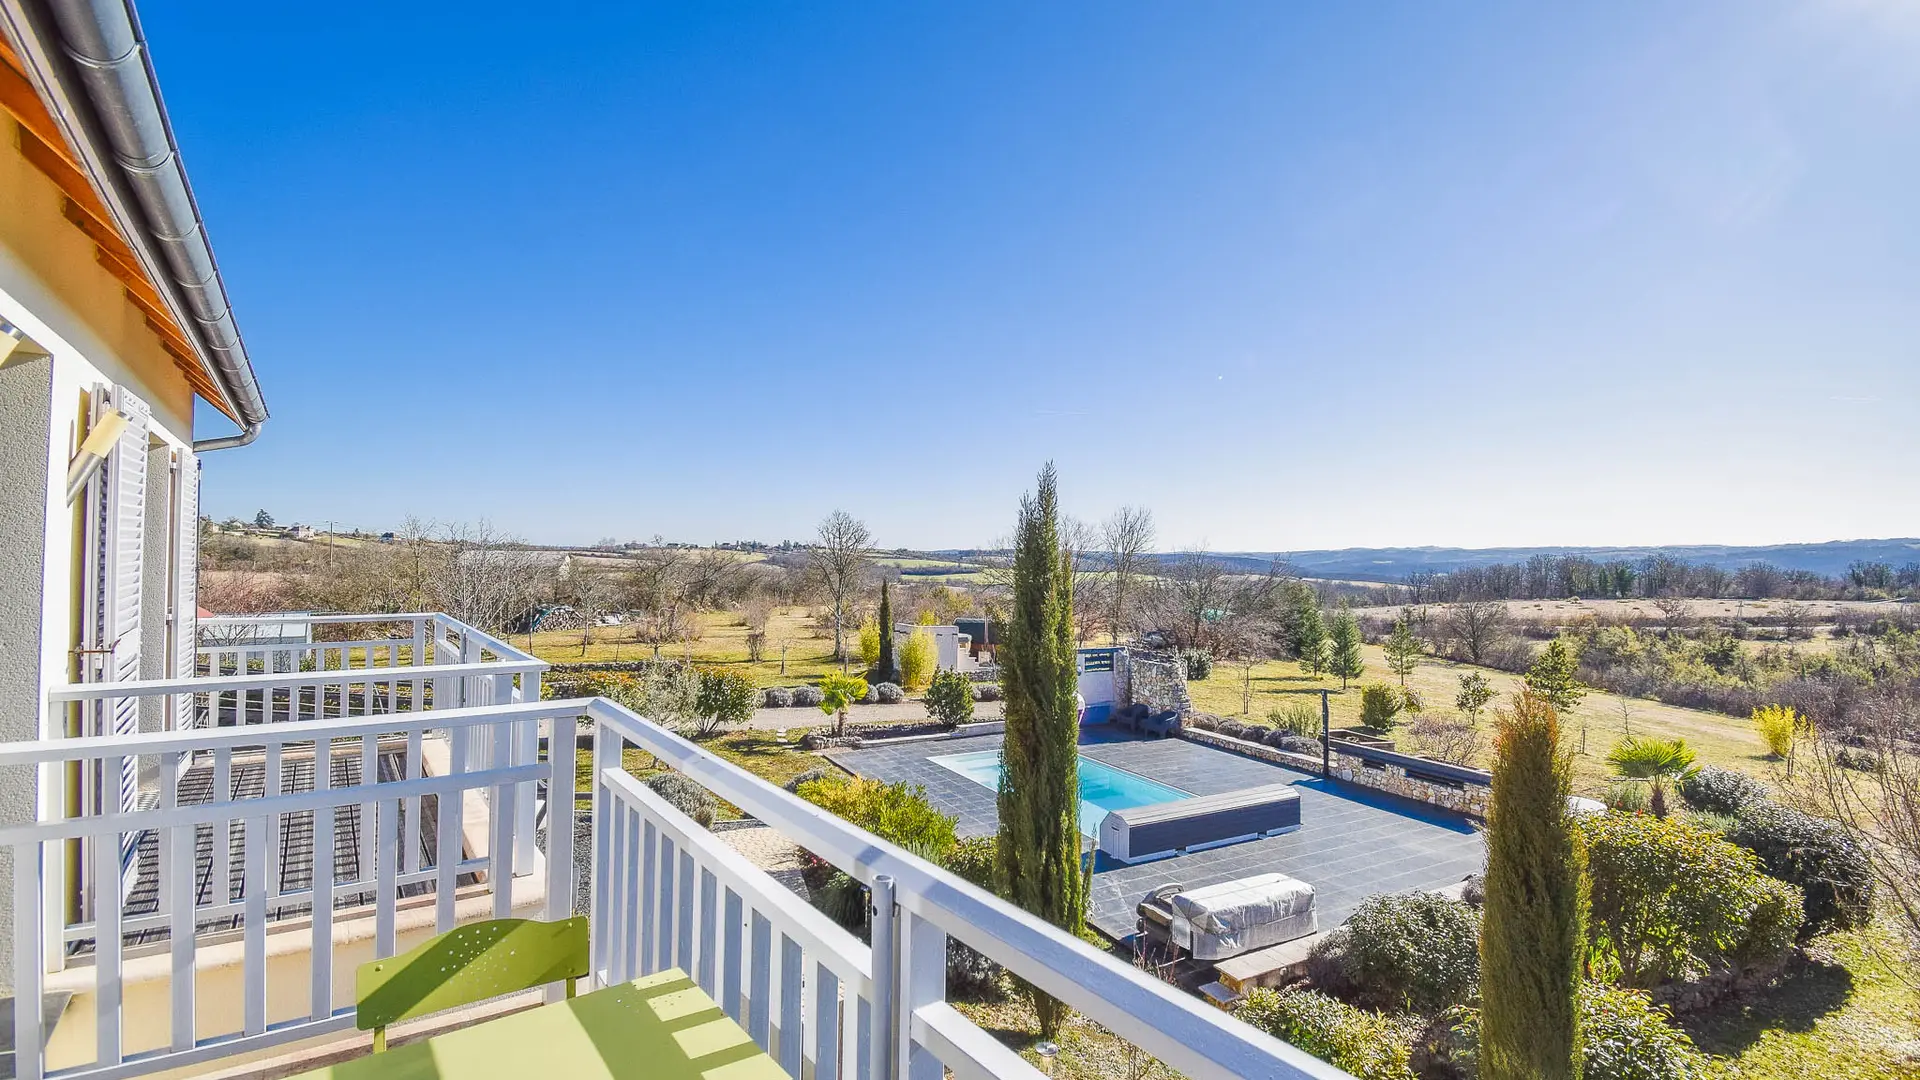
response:
<svg viewBox="0 0 1920 1080"><path fill-rule="evenodd" d="M847 628L847 648L854 648L858 626ZM620 661L645 659L653 655L653 646L634 640L634 626L595 626L586 650L580 648L580 630L541 630L532 636L515 634L513 646L524 648L547 663ZM787 663L781 675L780 650L785 646ZM701 636L689 644L662 646L662 657L682 659L691 655L693 663L741 667L758 686L801 686L820 682L829 671L839 671L833 659L833 636L816 634L812 617L804 607L780 609L766 623L766 659L751 663L747 659L747 626L739 615L712 611L701 615ZM858 665L856 665L858 667Z"/></svg>

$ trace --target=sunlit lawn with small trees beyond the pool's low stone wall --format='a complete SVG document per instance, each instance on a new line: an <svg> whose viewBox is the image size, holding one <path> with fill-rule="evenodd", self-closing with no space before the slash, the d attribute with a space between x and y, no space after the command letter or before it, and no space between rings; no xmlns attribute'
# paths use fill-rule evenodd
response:
<svg viewBox="0 0 1920 1080"><path fill-rule="evenodd" d="M1321 688L1332 690L1332 724L1359 724L1359 684L1394 682L1400 678L1386 669L1386 653L1379 646L1365 646L1367 673L1352 688L1340 692L1338 678L1315 678L1294 661L1265 661L1254 665L1254 707L1252 719L1265 721L1267 713L1286 701L1309 701L1319 707ZM1500 698L1521 688L1521 676L1494 669L1475 669L1465 663L1444 659L1425 659L1407 676L1407 688L1417 692L1428 709L1453 711L1453 694L1459 692L1459 676L1480 671ZM1221 661L1213 665L1213 675L1202 682L1188 682L1187 692L1194 707L1221 717L1244 719L1242 709L1242 667ZM1496 698L1496 701L1500 700ZM1624 715L1620 707L1626 707ZM1484 721L1482 721L1484 723ZM1580 730L1586 726L1586 751L1580 753ZM1574 746L1574 788L1580 794L1599 794L1607 786L1607 749L1626 734L1659 734L1686 738L1688 746L1699 753L1701 765L1720 765L1740 769L1757 776L1766 776L1772 769L1766 759L1766 746L1753 732L1753 724L1720 713L1701 709L1680 709L1645 698L1619 698L1615 694L1588 694L1569 717L1563 719L1567 738ZM1396 732L1396 742L1405 748L1405 730ZM1492 751L1488 736L1486 751ZM1480 763L1484 767L1484 761Z"/></svg>

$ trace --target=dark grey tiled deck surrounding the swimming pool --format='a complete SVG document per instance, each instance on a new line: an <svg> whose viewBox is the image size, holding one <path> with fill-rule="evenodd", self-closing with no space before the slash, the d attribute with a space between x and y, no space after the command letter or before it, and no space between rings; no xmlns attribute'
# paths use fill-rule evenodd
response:
<svg viewBox="0 0 1920 1080"><path fill-rule="evenodd" d="M1000 736L975 736L835 749L828 757L860 776L924 786L933 805L960 821L962 836L983 836L995 832L998 822L993 792L931 759L998 748ZM1177 738L1114 738L1087 730L1081 734L1081 755L1196 796L1261 784L1300 788L1302 824L1286 836L1137 867L1100 857L1094 863L1091 922L1110 938L1133 934L1133 905L1148 890L1167 882L1200 888L1275 871L1290 874L1313 884L1321 928L1331 930L1367 896L1446 888L1476 872L1486 859L1480 834L1459 815L1210 746Z"/></svg>

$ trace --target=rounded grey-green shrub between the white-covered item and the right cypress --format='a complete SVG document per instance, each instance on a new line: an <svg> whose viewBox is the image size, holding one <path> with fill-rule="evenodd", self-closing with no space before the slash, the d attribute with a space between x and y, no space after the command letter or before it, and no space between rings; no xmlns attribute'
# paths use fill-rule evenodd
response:
<svg viewBox="0 0 1920 1080"><path fill-rule="evenodd" d="M1473 909L1430 892L1369 896L1315 942L1313 984L1375 1009L1436 1013L1473 997L1480 926Z"/></svg>

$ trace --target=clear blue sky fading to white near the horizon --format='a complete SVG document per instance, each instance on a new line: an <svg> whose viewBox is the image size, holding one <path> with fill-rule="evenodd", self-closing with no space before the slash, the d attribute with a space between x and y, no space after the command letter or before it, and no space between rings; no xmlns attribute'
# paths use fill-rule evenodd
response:
<svg viewBox="0 0 1920 1080"><path fill-rule="evenodd" d="M215 515L1920 534L1912 4L140 12L273 409Z"/></svg>

